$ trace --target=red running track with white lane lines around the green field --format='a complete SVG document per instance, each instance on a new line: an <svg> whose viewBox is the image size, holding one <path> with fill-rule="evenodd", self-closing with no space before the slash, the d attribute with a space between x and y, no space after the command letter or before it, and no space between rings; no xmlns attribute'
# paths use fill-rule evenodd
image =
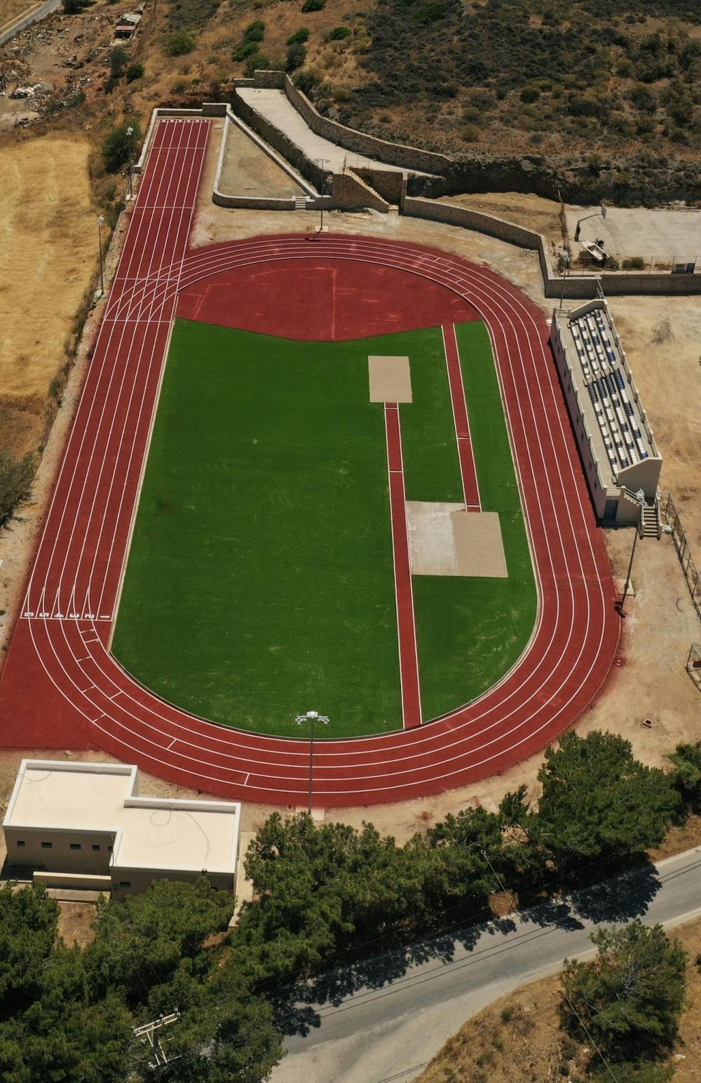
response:
<svg viewBox="0 0 701 1083"><path fill-rule="evenodd" d="M331 268L334 313L323 317L326 337L329 331L335 337L372 334L368 327L381 322L383 305L394 321L384 330L399 329L402 319L420 326L411 321L429 296L442 298L434 326L465 318L465 312L476 312L488 324L539 612L518 663L473 703L404 732L317 742L315 801L399 800L502 771L542 748L591 703L611 666L620 626L542 314L487 269L409 244L332 235L309 244L307 237L273 236L188 250L207 134L204 120L157 126L39 542L25 615L0 681L2 741L25 747L97 746L223 796L304 803L306 741L195 718L124 673L108 643L178 292L178 311L185 314L197 297L203 314L203 284L233 277L241 285L239 293L226 297L235 324L247 326L255 317L260 330L270 330L276 321L299 330L304 321L308 337L319 337L316 308L306 289L300 299L299 285L315 275L318 280L321 272L327 280ZM261 271L266 274L264 302ZM341 303L352 279L366 293L365 284L381 282L383 291L380 298L370 292L367 304L355 308L355 318ZM413 283L414 303L405 297L408 283ZM282 315L279 304L268 303L276 296L287 301ZM423 310L420 315L425 318Z"/></svg>

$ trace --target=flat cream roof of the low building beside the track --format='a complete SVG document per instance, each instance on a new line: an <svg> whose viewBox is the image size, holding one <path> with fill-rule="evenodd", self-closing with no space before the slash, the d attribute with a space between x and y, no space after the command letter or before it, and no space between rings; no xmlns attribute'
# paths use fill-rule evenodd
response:
<svg viewBox="0 0 701 1083"><path fill-rule="evenodd" d="M241 806L138 796L138 769L122 764L23 760L4 826L114 832L124 869L236 870Z"/></svg>

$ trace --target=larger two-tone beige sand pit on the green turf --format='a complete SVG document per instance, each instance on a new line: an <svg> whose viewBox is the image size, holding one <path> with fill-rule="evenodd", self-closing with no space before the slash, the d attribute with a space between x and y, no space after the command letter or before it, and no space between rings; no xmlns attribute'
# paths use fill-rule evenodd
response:
<svg viewBox="0 0 701 1083"><path fill-rule="evenodd" d="M462 504L407 500L412 575L506 578L497 511Z"/></svg>

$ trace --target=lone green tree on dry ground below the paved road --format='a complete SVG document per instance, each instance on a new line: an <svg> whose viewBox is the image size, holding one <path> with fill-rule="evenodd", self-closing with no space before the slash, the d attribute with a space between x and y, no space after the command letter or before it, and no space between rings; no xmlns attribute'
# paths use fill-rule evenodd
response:
<svg viewBox="0 0 701 1083"><path fill-rule="evenodd" d="M678 941L661 925L650 928L638 918L599 928L591 939L594 962L565 962L563 1012L569 1027L584 1040L588 1031L619 1060L637 1061L667 1047L684 1008L686 954Z"/></svg>

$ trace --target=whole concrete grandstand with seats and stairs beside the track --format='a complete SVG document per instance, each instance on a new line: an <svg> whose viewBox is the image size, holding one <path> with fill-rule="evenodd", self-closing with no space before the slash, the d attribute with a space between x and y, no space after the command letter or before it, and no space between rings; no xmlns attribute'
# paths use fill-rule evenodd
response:
<svg viewBox="0 0 701 1083"><path fill-rule="evenodd" d="M554 311L551 345L596 514L659 534L662 458L606 301Z"/></svg>

